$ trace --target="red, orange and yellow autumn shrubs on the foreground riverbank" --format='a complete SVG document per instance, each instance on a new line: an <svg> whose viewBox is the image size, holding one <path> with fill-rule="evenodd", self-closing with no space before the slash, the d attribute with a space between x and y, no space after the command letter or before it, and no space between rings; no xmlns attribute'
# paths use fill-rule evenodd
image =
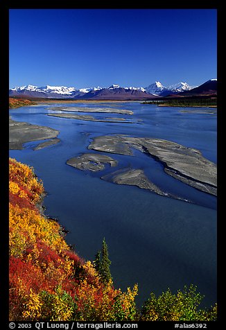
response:
<svg viewBox="0 0 226 330"><path fill-rule="evenodd" d="M9 170L10 320L184 320L193 303L190 293L151 295L139 312L137 284L122 292L112 278L103 281L95 263L84 261L67 245L59 223L40 212L44 186L33 168L10 158ZM196 308L193 318L216 318L216 306L202 314L195 314Z"/></svg>

